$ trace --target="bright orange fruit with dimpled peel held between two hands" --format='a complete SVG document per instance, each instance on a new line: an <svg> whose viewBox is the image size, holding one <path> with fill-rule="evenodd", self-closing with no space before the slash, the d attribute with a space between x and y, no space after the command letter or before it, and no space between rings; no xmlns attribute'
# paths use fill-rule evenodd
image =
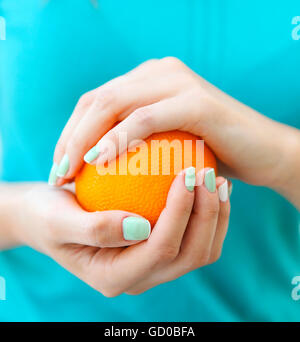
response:
<svg viewBox="0 0 300 342"><path fill-rule="evenodd" d="M164 139L170 143L174 139L178 139L182 143L182 146L184 146L184 140L191 141L192 149L182 148L182 160L186 160L186 167L194 166L196 171L201 170L203 167L212 167L216 170L216 159L212 151L204 144L203 153L203 144L196 144L196 140L200 140L199 137L181 131L155 133L145 139L148 151L147 147L137 148L136 152L126 152L127 162L124 159L126 156L123 153L114 162L100 167L102 171L107 170L108 167L112 167L112 170L116 170L115 174L103 175L102 172L102 175L99 175L97 172L99 166L96 168L93 165L84 165L75 180L77 200L83 209L90 212L103 210L125 210L133 212L148 219L153 227L165 206L171 183L176 176L174 170L177 170L178 173L183 167L180 158L174 158L176 149L171 149L171 153L168 153L169 158L163 152L160 152L159 158L157 158L157 153L153 154L154 157L156 156L156 160L152 160L152 163L154 165L158 165L159 163L159 171L156 168L158 174L151 174L151 170L155 169L153 166L151 168L151 140L161 141ZM198 151L198 165L196 165L196 148ZM146 163L136 163L138 157ZM113 165L116 166L115 169ZM123 165L123 175L119 174L119 165ZM129 172L132 168L128 165L137 165L138 167L143 165L144 168L142 170L147 174L134 175ZM166 171L164 173L162 172L162 165L167 168L170 166L170 174L165 174ZM124 170L127 170L126 175L124 175ZM168 171L168 169L165 170Z"/></svg>

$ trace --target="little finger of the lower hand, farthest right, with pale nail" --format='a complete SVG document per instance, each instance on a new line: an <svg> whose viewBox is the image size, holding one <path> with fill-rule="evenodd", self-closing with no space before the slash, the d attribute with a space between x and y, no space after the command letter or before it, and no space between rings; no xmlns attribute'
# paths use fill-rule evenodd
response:
<svg viewBox="0 0 300 342"><path fill-rule="evenodd" d="M229 217L230 217L230 201L228 181L223 177L217 178L217 189L220 199L220 211L218 217L218 225L214 236L211 249L209 263L216 262L222 253L224 240L227 234Z"/></svg>

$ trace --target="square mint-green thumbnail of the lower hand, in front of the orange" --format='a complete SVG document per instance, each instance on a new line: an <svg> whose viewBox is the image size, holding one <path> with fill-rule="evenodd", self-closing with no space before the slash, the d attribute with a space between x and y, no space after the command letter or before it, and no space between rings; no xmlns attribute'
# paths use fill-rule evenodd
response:
<svg viewBox="0 0 300 342"><path fill-rule="evenodd" d="M126 217L123 220L123 236L125 240L146 240L150 236L150 222L142 217Z"/></svg>

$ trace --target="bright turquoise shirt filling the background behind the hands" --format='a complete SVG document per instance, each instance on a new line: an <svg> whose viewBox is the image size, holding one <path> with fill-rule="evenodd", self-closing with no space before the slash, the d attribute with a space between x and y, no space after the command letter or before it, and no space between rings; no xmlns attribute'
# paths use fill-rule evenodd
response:
<svg viewBox="0 0 300 342"><path fill-rule="evenodd" d="M80 95L150 58L176 56L236 99L300 128L298 0L98 3L1 0L1 180L46 181ZM105 298L29 247L4 251L0 321L298 321L298 275L298 211L269 189L234 181L215 264L139 296Z"/></svg>

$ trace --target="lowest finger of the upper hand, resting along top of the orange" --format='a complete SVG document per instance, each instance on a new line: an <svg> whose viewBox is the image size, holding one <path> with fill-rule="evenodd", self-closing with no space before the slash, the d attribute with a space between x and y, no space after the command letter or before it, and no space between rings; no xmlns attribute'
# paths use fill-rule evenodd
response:
<svg viewBox="0 0 300 342"><path fill-rule="evenodd" d="M91 158L89 162L104 164L126 151L128 146L133 147L135 141L138 143L152 133L184 129L184 103L168 98L136 109L100 139L95 146L97 153L93 156L97 161ZM124 136L127 144L121 143Z"/></svg>

